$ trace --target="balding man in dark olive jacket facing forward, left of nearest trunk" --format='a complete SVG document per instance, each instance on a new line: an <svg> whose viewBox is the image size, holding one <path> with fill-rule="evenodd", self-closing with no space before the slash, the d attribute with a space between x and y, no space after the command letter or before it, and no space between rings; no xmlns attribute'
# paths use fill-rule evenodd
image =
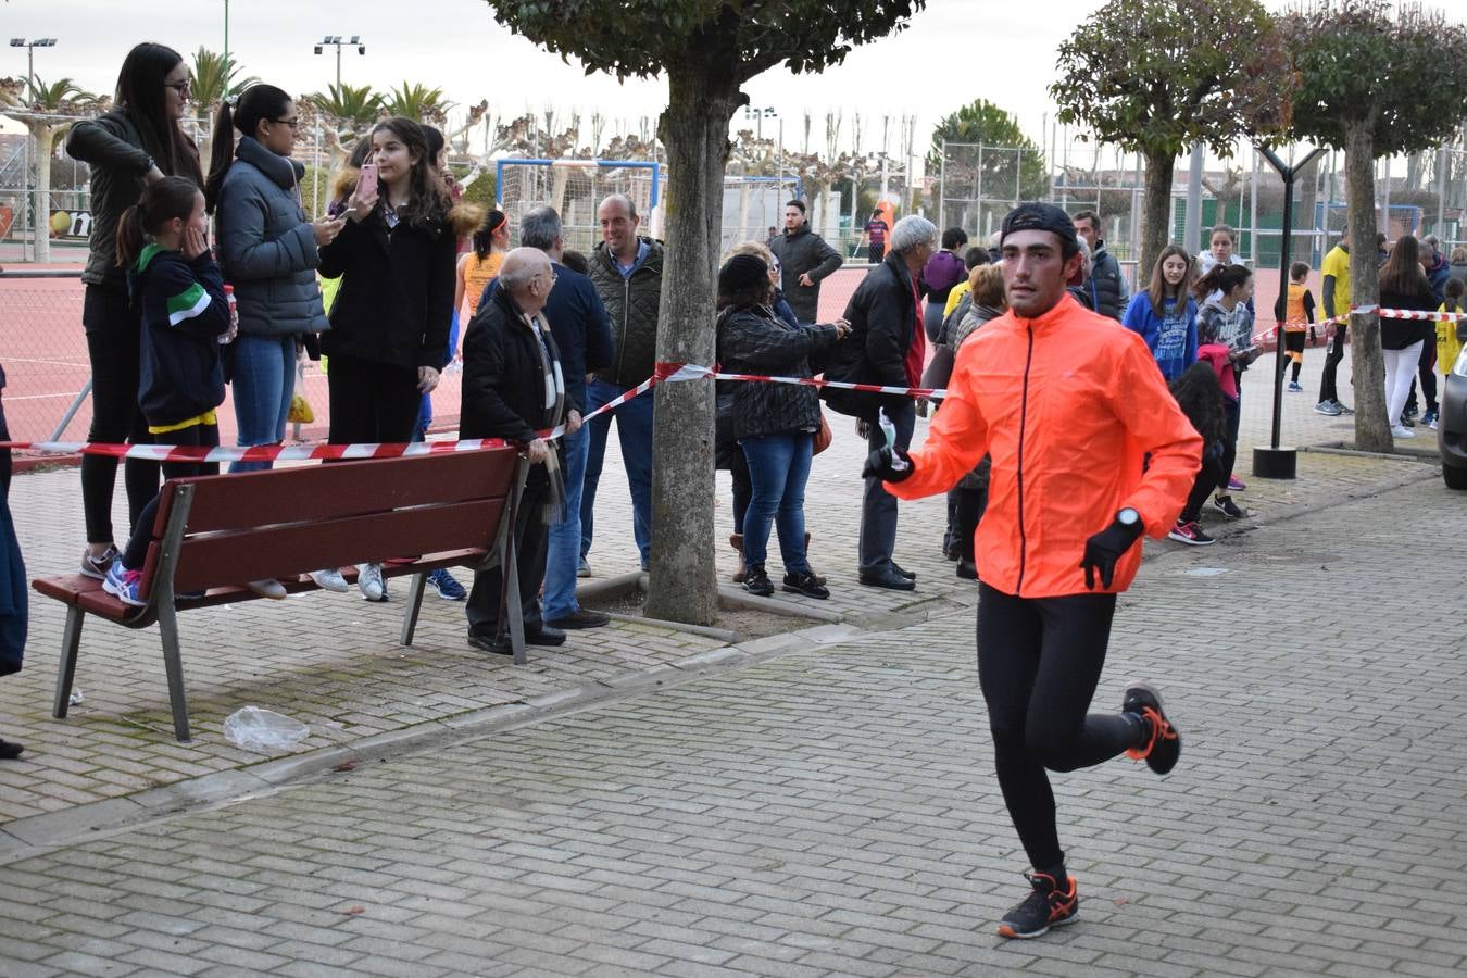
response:
<svg viewBox="0 0 1467 978"><path fill-rule="evenodd" d="M591 254L591 282L606 305L616 342L616 356L596 371L585 387L587 411L621 397L651 377L657 361L657 309L662 304L662 245L640 238L637 207L622 194L612 194L596 208L601 243ZM643 570L651 557L651 425L650 394L632 397L615 411L597 416L590 428L585 487L581 493L581 560L591 551L596 488L601 481L606 440L616 418L622 463L632 494L632 537ZM588 570L587 570L588 573Z"/></svg>

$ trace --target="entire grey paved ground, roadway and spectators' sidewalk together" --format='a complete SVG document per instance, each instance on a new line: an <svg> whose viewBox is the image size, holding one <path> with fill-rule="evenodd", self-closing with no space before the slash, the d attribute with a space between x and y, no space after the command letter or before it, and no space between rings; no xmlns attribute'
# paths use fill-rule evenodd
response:
<svg viewBox="0 0 1467 978"><path fill-rule="evenodd" d="M1460 974L1467 499L1413 459L1251 479L1250 384L1253 515L1210 548L1147 543L1097 694L1155 679L1182 764L1056 777L1075 927L993 935L1024 867L976 591L937 554L940 500L902 506L915 592L855 584L863 449L836 418L808 493L833 597L807 604L841 623L729 645L618 622L516 669L467 648L455 604L403 650L400 603L254 601L182 616L179 745L151 629L89 623L85 702L51 720L62 614L35 601L0 683L31 748L0 765L0 974ZM1287 400L1287 440L1350 437L1311 405ZM32 575L79 551L75 482L16 479ZM609 466L600 576L634 569L623 485ZM311 736L233 748L245 704Z"/></svg>

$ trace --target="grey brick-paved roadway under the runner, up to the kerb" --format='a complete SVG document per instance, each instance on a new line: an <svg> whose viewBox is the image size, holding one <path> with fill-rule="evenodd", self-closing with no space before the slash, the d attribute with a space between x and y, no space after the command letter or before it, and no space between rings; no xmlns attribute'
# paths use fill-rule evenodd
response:
<svg viewBox="0 0 1467 978"><path fill-rule="evenodd" d="M88 837L0 871L0 972L1458 975L1464 500L1417 482L1150 560L1097 695L1166 779L1056 776L1081 921L1022 855L971 613Z"/></svg>

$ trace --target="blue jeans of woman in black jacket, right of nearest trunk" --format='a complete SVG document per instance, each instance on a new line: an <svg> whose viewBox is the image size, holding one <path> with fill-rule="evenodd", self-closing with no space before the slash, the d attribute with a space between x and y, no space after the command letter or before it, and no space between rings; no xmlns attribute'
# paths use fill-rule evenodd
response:
<svg viewBox="0 0 1467 978"><path fill-rule="evenodd" d="M754 494L744 513L744 563L763 567L769 528L779 528L779 557L786 573L810 570L805 560L805 481L814 437L808 431L764 434L739 441Z"/></svg>

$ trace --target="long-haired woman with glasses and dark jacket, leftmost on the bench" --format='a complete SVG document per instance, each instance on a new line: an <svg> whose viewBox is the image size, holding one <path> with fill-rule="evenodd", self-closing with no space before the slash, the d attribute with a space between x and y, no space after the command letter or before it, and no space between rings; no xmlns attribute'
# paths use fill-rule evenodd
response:
<svg viewBox="0 0 1467 978"><path fill-rule="evenodd" d="M153 441L138 411L142 324L128 302L126 268L117 265L117 221L138 202L145 183L182 176L204 185L198 148L179 125L188 95L189 70L183 57L163 44L138 44L122 62L116 107L78 122L66 136L66 154L91 167L91 254L82 273L87 284L82 328L92 383L88 441ZM111 528L117 460L88 455L81 468L87 518L81 572L103 579L117 556ZM128 513L135 522L158 493L158 463L128 459L123 472Z"/></svg>

